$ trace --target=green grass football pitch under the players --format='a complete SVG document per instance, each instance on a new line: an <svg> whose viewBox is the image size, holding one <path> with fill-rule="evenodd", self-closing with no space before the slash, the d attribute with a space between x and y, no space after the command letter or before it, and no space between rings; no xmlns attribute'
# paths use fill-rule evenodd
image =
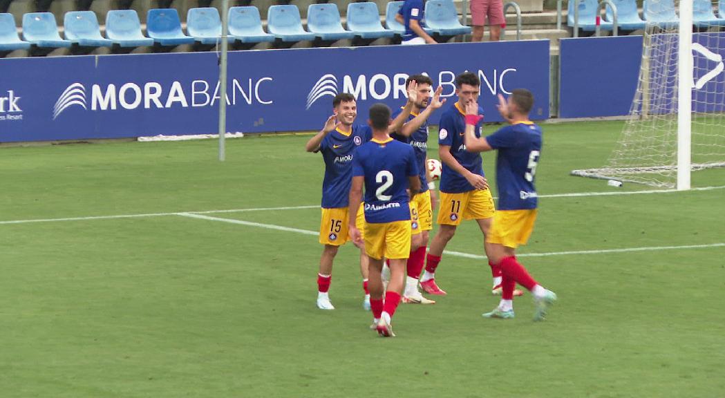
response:
<svg viewBox="0 0 725 398"><path fill-rule="evenodd" d="M649 189L568 175L604 165L621 126L544 125L539 194ZM215 141L1 148L0 396L725 394L725 246L713 246L725 243L725 189L544 196L521 260L559 296L547 321L531 321L529 294L514 320L481 318L498 300L489 267L444 255L449 295L401 304L398 337L381 339L351 245L334 268L337 309L323 312L316 236L171 214L319 204L323 162L308 138L230 140L223 163ZM693 182L724 186L725 170ZM320 222L316 208L207 215ZM691 245L710 246L664 248ZM481 235L465 224L447 249L483 254ZM566 253L581 251L608 252ZM536 255L547 253L560 254Z"/></svg>

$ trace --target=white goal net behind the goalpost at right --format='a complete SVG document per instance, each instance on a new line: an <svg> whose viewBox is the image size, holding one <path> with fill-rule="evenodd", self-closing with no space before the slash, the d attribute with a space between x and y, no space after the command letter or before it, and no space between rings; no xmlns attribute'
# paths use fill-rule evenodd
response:
<svg viewBox="0 0 725 398"><path fill-rule="evenodd" d="M692 48L685 50L692 57L688 60L692 62L689 75L683 73L687 70L679 68L681 37L675 13L677 8L682 8L678 6L684 6L684 1L691 1L694 9ZM710 0L682 0L682 3L645 0L647 28L630 117L608 164L599 169L573 170L573 175L674 188L678 178L678 151L687 150L688 144L689 170L725 167L725 19L718 20ZM725 17L725 7L721 16ZM679 103L682 75L685 87L692 91L689 117L684 119L679 115L682 109L688 109ZM679 158L680 162L682 159Z"/></svg>

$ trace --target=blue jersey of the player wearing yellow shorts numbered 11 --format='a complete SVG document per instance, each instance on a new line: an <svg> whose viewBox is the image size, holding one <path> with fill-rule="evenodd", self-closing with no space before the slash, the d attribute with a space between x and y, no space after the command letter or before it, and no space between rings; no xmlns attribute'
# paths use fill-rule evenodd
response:
<svg viewBox="0 0 725 398"><path fill-rule="evenodd" d="M479 107L479 115L484 114L484 109ZM476 125L476 137L481 137L481 129L484 120L481 119ZM438 144L450 146L450 153L453 157L471 173L484 175L484 167L481 164L481 154L478 152L466 152L463 134L465 133L465 111L459 109L458 103L443 112L438 130ZM441 184L439 189L449 194L460 194L473 191L473 186L466 181L463 175L453 171L444 162L441 173Z"/></svg>

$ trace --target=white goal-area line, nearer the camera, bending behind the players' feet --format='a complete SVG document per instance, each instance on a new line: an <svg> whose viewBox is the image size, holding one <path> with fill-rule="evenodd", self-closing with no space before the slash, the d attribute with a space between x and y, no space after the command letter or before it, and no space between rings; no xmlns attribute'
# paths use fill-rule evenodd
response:
<svg viewBox="0 0 725 398"><path fill-rule="evenodd" d="M176 213L183 217L198 218L200 220L218 221L220 223L231 223L239 225L248 225L251 227L259 227L266 229L273 229L277 231L297 232L304 233L305 235L318 236L317 231L309 231L299 228L283 227L281 225L273 224L262 224L262 223L251 223L249 221L234 220L232 218L221 218L221 217L210 217L208 215L199 215L194 213ZM626 252L655 252L659 250L676 250L676 249L706 249L711 247L725 247L725 243L716 244L691 244L683 246L649 246L649 247L628 247L624 249L600 249L600 250L577 250L573 252L547 252L547 253L523 253L516 254L516 257L548 257L548 256L566 256L571 254L607 254L607 253L626 253ZM450 250L444 250L443 254L447 254L455 257L469 258L473 260L485 260L487 257L480 254L469 254L463 252L453 252Z"/></svg>

